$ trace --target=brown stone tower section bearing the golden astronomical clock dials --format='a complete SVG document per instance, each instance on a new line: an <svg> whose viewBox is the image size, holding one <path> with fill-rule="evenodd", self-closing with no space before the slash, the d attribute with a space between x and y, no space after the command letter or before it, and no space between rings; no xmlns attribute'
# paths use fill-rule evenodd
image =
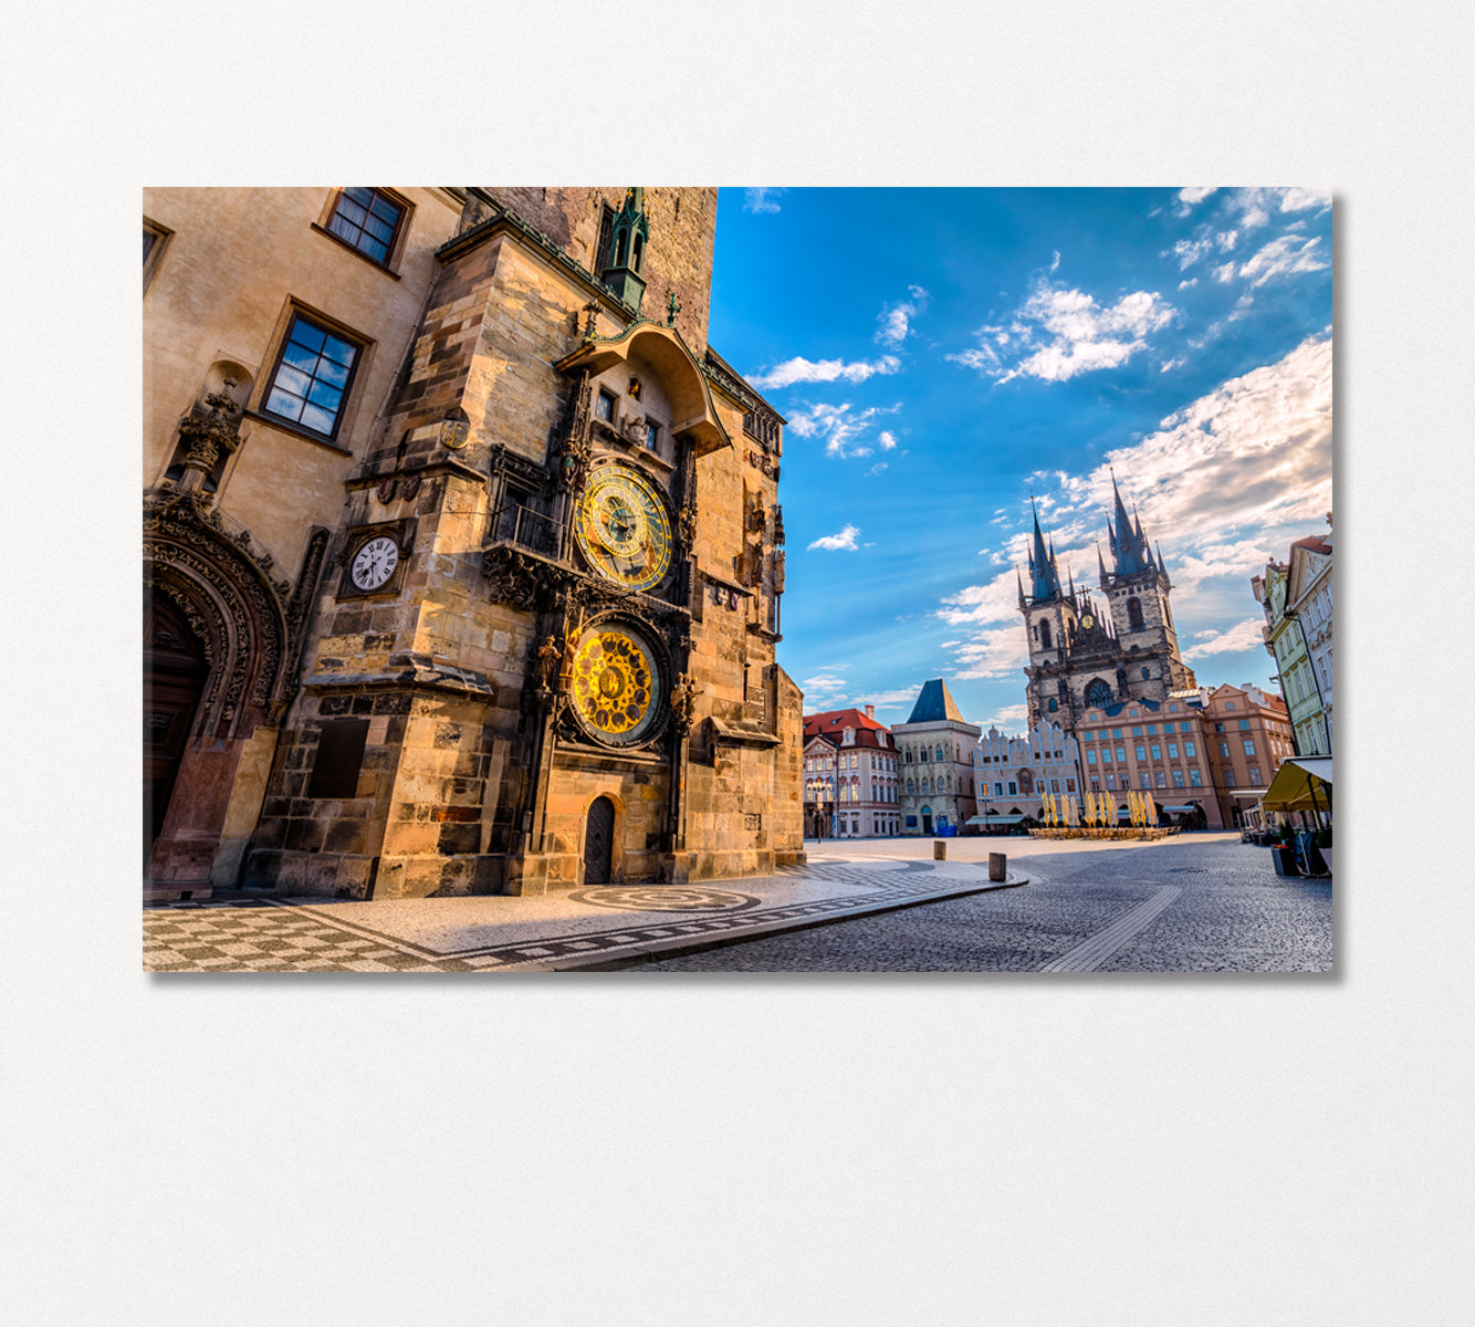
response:
<svg viewBox="0 0 1475 1327"><path fill-rule="evenodd" d="M714 189L468 190L347 484L251 882L537 894L802 860L783 420Z"/></svg>

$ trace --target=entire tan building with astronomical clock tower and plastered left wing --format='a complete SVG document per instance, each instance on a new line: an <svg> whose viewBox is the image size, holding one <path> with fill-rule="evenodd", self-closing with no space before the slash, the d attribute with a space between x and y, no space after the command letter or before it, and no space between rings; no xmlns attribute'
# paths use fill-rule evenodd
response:
<svg viewBox="0 0 1475 1327"><path fill-rule="evenodd" d="M802 858L783 420L707 345L714 189L145 208L148 894Z"/></svg>

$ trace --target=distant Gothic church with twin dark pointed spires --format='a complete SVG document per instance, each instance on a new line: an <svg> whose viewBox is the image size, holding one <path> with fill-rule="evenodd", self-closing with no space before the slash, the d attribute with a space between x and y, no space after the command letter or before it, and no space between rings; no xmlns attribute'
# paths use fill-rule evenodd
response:
<svg viewBox="0 0 1475 1327"><path fill-rule="evenodd" d="M1114 520L1108 525L1112 566L1097 544L1102 605L1074 575L1061 582L1053 541L1046 546L1034 518L1030 593L1019 579L1019 612L1025 619L1030 664L1025 700L1031 731L1055 722L1074 733L1087 709L1125 700L1164 700L1170 692L1198 686L1179 653L1168 599L1173 582L1142 531L1127 513L1112 476Z"/></svg>

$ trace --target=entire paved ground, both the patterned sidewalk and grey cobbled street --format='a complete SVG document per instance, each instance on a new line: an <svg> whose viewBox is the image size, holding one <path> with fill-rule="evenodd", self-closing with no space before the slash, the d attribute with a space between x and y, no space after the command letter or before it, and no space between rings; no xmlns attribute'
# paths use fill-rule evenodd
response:
<svg viewBox="0 0 1475 1327"><path fill-rule="evenodd" d="M640 972L1329 972L1332 886L1283 880L1264 849L1184 839L1140 849L1016 858L1024 889L916 902L975 888L976 863L819 861L745 889L656 889L566 896L521 933L506 924L414 930L410 914L335 910L316 899L230 898L145 908L152 972L485 972L721 944L752 926L823 922L858 904L898 911L640 961ZM802 888L795 889L796 885ZM752 891L751 894L748 891ZM466 905L473 901L447 901ZM519 901L487 899L487 904ZM913 904L907 907L906 904ZM364 907L364 905L360 905ZM367 905L373 907L373 905ZM435 908L435 902L406 904ZM693 910L695 907L695 910ZM437 913L437 917L444 917ZM381 919L376 922L376 917ZM367 919L369 924L361 924ZM388 920L384 920L388 919ZM379 929L384 927L384 929ZM398 929L391 935L386 930ZM435 945L414 939L435 939ZM460 939L457 944L456 939Z"/></svg>

